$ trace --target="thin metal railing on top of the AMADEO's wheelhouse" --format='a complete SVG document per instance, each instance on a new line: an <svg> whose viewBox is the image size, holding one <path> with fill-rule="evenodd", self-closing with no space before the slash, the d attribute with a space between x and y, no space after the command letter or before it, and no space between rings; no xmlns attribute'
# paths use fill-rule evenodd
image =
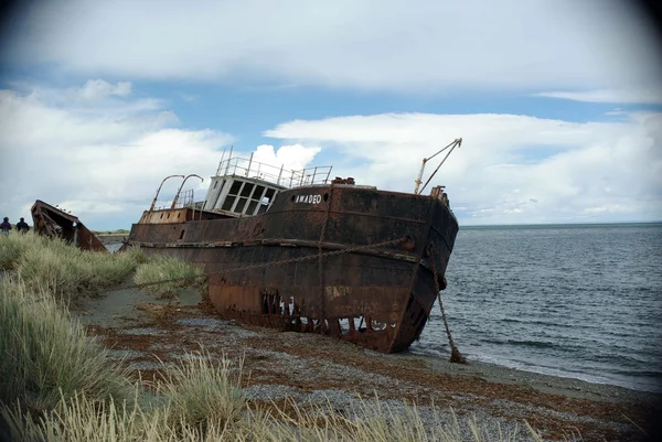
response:
<svg viewBox="0 0 662 442"><path fill-rule="evenodd" d="M312 184L327 184L331 175L330 165L311 166L301 170L288 170L274 166L250 158L232 157L221 161L217 176L236 175L261 180L287 188Z"/></svg>

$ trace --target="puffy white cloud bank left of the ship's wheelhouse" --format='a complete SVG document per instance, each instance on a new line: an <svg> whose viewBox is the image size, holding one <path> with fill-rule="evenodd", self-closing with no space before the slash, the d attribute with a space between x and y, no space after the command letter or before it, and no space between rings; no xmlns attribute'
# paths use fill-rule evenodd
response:
<svg viewBox="0 0 662 442"><path fill-rule="evenodd" d="M66 101L72 91L97 105ZM172 111L158 101L146 106L145 99L127 98L129 93L127 83L103 80L61 90L0 90L0 180L11 190L0 211L12 219L29 217L39 198L89 226L116 228L138 219L166 175L215 172L220 149L232 136L178 129ZM118 96L122 100L106 100ZM166 185L164 197L172 197L177 185ZM204 190L195 192L204 197Z"/></svg>

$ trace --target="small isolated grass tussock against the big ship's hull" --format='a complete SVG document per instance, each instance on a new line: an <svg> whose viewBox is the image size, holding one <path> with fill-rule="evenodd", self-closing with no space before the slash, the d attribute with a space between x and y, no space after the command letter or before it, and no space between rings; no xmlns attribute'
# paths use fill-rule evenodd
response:
<svg viewBox="0 0 662 442"><path fill-rule="evenodd" d="M202 281L203 273L200 266L173 257L158 255L138 267L134 282L138 285L147 284L143 290L150 293L160 297L173 297L181 288L199 284ZM156 283L159 281L169 282Z"/></svg>

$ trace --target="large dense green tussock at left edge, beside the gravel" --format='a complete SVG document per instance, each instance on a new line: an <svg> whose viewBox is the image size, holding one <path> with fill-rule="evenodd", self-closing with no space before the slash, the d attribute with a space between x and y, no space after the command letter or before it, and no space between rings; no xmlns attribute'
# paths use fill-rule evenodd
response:
<svg viewBox="0 0 662 442"><path fill-rule="evenodd" d="M0 402L41 412L77 391L98 401L130 394L126 373L50 292L4 277L0 294Z"/></svg>

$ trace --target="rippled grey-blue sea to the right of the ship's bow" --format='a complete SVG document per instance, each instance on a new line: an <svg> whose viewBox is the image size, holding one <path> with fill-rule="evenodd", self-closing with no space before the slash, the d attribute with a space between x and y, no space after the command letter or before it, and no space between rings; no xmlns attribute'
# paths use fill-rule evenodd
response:
<svg viewBox="0 0 662 442"><path fill-rule="evenodd" d="M446 279L469 362L662 391L662 224L460 227ZM437 303L410 352L449 357Z"/></svg>

